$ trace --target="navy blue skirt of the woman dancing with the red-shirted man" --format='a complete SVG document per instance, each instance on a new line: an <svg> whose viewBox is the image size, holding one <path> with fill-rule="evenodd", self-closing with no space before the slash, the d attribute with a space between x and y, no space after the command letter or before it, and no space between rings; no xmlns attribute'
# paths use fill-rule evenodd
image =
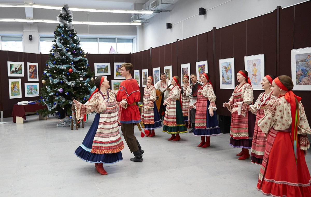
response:
<svg viewBox="0 0 311 197"><path fill-rule="evenodd" d="M118 161L122 161L123 157L121 151L111 154L91 153L92 144L98 127L99 119L100 114L96 113L90 129L87 132L82 144L75 151L75 155L80 159L82 159L83 161L91 163L113 164Z"/></svg>

